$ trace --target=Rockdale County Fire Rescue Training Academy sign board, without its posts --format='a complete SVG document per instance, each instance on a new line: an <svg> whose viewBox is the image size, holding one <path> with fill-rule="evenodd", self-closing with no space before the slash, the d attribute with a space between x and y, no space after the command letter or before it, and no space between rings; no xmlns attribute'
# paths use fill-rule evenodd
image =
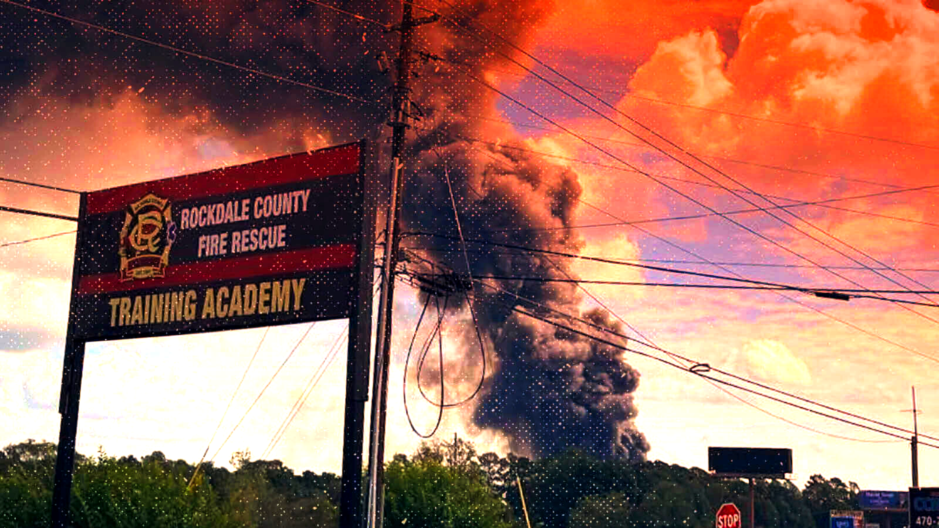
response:
<svg viewBox="0 0 939 528"><path fill-rule="evenodd" d="M362 253L362 164L356 143L87 194L71 335L349 317Z"/></svg>

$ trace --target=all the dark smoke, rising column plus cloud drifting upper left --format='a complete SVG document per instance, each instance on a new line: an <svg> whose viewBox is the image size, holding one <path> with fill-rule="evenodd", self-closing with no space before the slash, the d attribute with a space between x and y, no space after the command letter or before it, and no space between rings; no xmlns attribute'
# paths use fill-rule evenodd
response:
<svg viewBox="0 0 939 528"><path fill-rule="evenodd" d="M400 18L398 2L333 4L384 23ZM377 54L394 56L397 36L377 24L285 0L29 5L375 102L361 104L278 83L2 4L0 85L7 87L8 98L0 101L0 119L7 129L41 112L43 98L100 106L128 90L166 115L196 110L211 116L212 123L194 122L193 134L218 126L233 137L263 136L271 148L279 149L276 153L304 148L303 138L311 132L326 132L339 143L376 137L387 129L392 80L378 68ZM541 0L462 1L456 3L459 12L434 5L452 20L485 23L523 46L552 9L550 2ZM499 116L496 97L469 80L465 70L485 77L490 70L515 68L497 52L517 54L478 27L473 33L490 43L445 21L417 31L417 51L445 60L415 64L420 76L413 82L411 98L423 119L409 147L407 229L456 234L446 170L467 238L577 253L581 241L576 231L563 229L572 225L577 209L577 174L520 150L466 140L520 145L516 132L489 120ZM80 186L96 187L94 181ZM406 245L466 271L453 241L410 237ZM562 259L471 249L474 274L573 275ZM543 307L512 301L494 288ZM531 456L579 447L602 458L645 457L649 445L633 424L637 411L632 393L639 373L623 362L622 353L511 309L516 303L541 315L549 313L545 307L578 314L581 297L575 285L490 281L489 287L475 288L474 298L489 359L495 360L484 392L474 402L475 425L501 431L513 449ZM616 327L599 312L583 317ZM469 328L465 343L464 361L474 365L476 340Z"/></svg>

